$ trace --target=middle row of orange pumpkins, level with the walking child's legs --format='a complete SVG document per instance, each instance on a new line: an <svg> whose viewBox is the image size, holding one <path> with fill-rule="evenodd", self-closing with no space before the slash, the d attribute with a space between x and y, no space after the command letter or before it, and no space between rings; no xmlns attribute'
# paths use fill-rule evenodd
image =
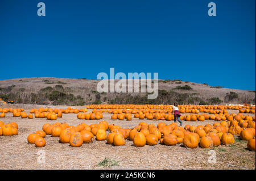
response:
<svg viewBox="0 0 256 181"><path fill-rule="evenodd" d="M56 108L52 110L51 108L47 108L43 110L36 110L33 108L30 112L35 114L36 118L47 118L48 120L56 120L57 117L62 117L62 113L64 110L57 110ZM72 108L71 108L72 109ZM66 109L68 110L68 109ZM77 110L77 109L75 109ZM77 110L81 111L81 110ZM87 110L86 110L87 111ZM29 113L27 115L26 112L24 112L23 109L14 109L13 111L13 116L14 117L22 117L22 118L28 118L32 119L34 116L32 113ZM77 113L77 118L78 119L86 119L86 120L99 120L102 119L103 114L101 110L93 110L92 113ZM123 113L123 110L115 110L113 111L112 119L119 119L119 120L132 120L133 116L131 115L132 113ZM5 117L5 113L2 112L0 113L0 117ZM239 119L236 119L236 117L240 117ZM167 120L171 121L174 120L174 115L171 113L148 113L145 111L138 111L137 113L134 114L134 118L139 118L139 119L148 119L148 120ZM180 120L185 120L185 121L204 121L204 120L216 120L216 121L221 121L221 120L233 120L236 119L240 121L241 119L244 121L250 121L253 120L255 121L255 116L251 117L249 115L243 115L242 113L238 114L229 114L229 113L215 113L214 115L209 115L208 113L203 113L203 114L186 114L180 116Z"/></svg>

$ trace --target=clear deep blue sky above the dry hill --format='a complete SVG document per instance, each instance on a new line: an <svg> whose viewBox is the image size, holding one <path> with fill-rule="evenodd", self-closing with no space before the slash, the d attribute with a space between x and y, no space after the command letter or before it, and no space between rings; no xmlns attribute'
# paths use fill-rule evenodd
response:
<svg viewBox="0 0 256 181"><path fill-rule="evenodd" d="M255 90L255 0L1 0L0 62L0 79L115 68Z"/></svg>

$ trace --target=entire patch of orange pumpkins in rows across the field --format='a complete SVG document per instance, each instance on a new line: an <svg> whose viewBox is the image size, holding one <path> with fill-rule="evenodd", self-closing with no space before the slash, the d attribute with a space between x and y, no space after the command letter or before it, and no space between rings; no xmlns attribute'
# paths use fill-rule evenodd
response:
<svg viewBox="0 0 256 181"><path fill-rule="evenodd" d="M246 141L246 150L255 151L255 117L229 106L179 106L184 125L174 123L172 107L167 105L87 105L86 108L6 109L6 117L42 124L27 134L27 145L36 148L84 149L109 146L109 149L172 148L229 149L237 140ZM250 110L250 109L249 109ZM28 112L28 113L26 113ZM184 112L184 113L183 113ZM250 111L247 111L250 112ZM75 118L72 124L61 122ZM67 119L68 117L68 119ZM59 122L57 122L59 121ZM189 121L189 124L186 122ZM20 122L18 122L19 124ZM0 121L0 136L18 134L14 121ZM29 129L29 128L26 128ZM23 134L20 133L19 134ZM120 146L120 147L119 147ZM32 149L30 147L30 149ZM246 151L245 150L245 151ZM160 154L167 154L165 152Z"/></svg>

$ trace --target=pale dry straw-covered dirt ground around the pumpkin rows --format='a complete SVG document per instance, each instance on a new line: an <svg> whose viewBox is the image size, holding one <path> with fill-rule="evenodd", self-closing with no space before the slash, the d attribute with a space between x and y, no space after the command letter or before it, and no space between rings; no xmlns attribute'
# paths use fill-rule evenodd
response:
<svg viewBox="0 0 256 181"><path fill-rule="evenodd" d="M13 107L24 108L28 113L36 105L0 105L1 108ZM52 108L67 108L67 106L52 106ZM72 108L84 108L82 106ZM88 110L91 112L92 110ZM229 111L229 113L238 113L238 111ZM34 144L27 143L27 136L38 130L42 130L45 123L68 123L77 125L82 122L86 124L98 123L100 120L79 120L77 114L63 114L62 118L55 121L47 119L21 119L13 117L12 113L6 113L6 117L0 119L5 124L16 122L19 125L19 134L16 136L0 136L0 169L255 169L255 152L247 150L247 142L236 138L234 145L218 146L213 149L187 149L178 144L176 146L144 146L136 148L133 142L126 140L124 146L112 146L106 144L106 141L94 141L90 144L83 144L80 148L73 148L69 144L60 144L58 137L46 136L46 146L36 148ZM254 116L252 114L249 114ZM133 128L142 120L134 119L111 120L109 113L104 113L102 120L109 124L121 125L123 128ZM146 123L159 122L170 124L173 121L154 121L143 120ZM213 124L214 121L207 120L202 122L183 121L183 127L186 124ZM45 151L46 163L38 163L38 151ZM209 150L216 151L216 163L208 163ZM118 164L111 167L98 166L98 163L105 158L111 158Z"/></svg>

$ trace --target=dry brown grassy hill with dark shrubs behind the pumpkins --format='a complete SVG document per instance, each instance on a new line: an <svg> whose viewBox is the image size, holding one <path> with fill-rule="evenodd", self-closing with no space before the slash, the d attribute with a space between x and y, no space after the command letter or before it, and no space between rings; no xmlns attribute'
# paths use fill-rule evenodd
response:
<svg viewBox="0 0 256 181"><path fill-rule="evenodd" d="M0 98L23 104L255 104L255 91L213 87L207 83L159 80L156 99L147 93L97 92L98 80L67 78L19 78L0 81ZM117 80L115 81L117 82ZM139 87L141 82L139 81Z"/></svg>

